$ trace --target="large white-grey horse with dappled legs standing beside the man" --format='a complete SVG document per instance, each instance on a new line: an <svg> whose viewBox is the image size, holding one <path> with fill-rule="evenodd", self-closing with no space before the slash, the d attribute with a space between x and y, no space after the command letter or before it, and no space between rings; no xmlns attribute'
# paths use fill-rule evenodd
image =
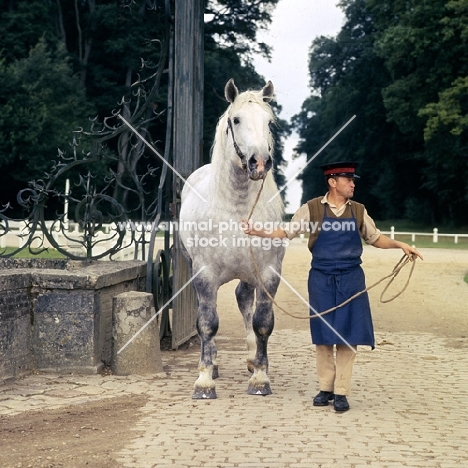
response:
<svg viewBox="0 0 468 468"><path fill-rule="evenodd" d="M274 197L278 189L270 171L273 166L270 125L274 115L268 103L273 91L269 81L261 91L239 94L234 81L228 81L224 94L230 105L217 125L211 164L191 174L182 191L180 238L195 277L197 331L201 340L195 399L216 398L213 380L218 377L214 342L219 325L216 299L219 287L234 279L240 280L236 299L247 333L247 367L252 372L248 393L271 394L267 343L274 317L265 290L270 297L276 294L285 246L280 239L246 236L240 229L240 220L248 217L254 205L256 223L268 227L282 220L283 203L280 196Z"/></svg>

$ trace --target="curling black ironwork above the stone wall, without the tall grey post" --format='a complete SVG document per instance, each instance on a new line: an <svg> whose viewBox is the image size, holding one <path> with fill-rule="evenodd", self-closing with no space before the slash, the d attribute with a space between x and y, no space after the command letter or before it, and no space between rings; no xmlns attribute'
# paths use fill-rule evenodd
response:
<svg viewBox="0 0 468 468"><path fill-rule="evenodd" d="M58 151L51 170L21 190L16 205L0 208L0 257L55 249L72 260L113 260L132 247L134 259L147 261L146 290L153 292L157 310L164 306L163 335L170 333L168 229L163 232L164 248L155 254L155 246L161 222L168 226L172 197L172 173L166 163L171 159L173 131L173 19L170 1L146 4L161 13L162 35L150 41L158 49L158 61L141 59L138 79L118 108L110 116L92 119L89 128L75 130L70 149ZM159 110L155 103L161 101L163 81L167 105ZM162 146L163 156L154 157L120 117L154 148ZM161 127L160 145L152 132ZM8 248L12 233L18 233L20 241Z"/></svg>

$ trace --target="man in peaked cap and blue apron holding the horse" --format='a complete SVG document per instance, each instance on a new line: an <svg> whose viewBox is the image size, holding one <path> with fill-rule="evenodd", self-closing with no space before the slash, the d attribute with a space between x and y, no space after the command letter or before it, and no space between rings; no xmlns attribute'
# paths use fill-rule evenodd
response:
<svg viewBox="0 0 468 468"><path fill-rule="evenodd" d="M309 200L294 214L286 229L254 229L244 222L246 234L293 239L310 225L309 250L312 265L308 290L311 307L310 329L316 345L319 393L314 406L327 406L333 400L335 411L349 410L351 375L358 345L374 348L367 292L348 304L332 309L366 288L361 268L362 242L381 249L402 249L413 260L421 254L410 245L383 235L364 205L352 201L357 163L338 162L321 166L328 192ZM317 314L317 315L314 315ZM335 350L336 348L336 350ZM336 356L335 356L336 354Z"/></svg>

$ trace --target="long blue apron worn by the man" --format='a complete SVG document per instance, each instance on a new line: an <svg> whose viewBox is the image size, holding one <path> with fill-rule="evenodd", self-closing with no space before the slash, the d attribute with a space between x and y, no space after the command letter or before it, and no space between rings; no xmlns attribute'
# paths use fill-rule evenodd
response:
<svg viewBox="0 0 468 468"><path fill-rule="evenodd" d="M317 312L336 307L366 288L361 268L362 242L356 218L331 218L324 205L321 231L312 247L309 303ZM314 312L310 311L311 315ZM330 324L327 326L323 320ZM374 348L374 327L367 292L333 312L310 320L312 342Z"/></svg>

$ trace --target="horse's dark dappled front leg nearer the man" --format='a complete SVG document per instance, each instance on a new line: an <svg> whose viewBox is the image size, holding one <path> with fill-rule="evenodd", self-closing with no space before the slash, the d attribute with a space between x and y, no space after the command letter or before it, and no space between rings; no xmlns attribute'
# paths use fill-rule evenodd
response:
<svg viewBox="0 0 468 468"><path fill-rule="evenodd" d="M275 282L275 281L273 281ZM276 285L268 288L269 293L274 297L277 289ZM268 286L267 286L268 287ZM257 307L252 318L252 327L257 341L257 352L253 361L254 372L249 380L249 395L270 395L270 379L268 378L268 339L274 327L273 304L265 293L263 287L257 289Z"/></svg>

